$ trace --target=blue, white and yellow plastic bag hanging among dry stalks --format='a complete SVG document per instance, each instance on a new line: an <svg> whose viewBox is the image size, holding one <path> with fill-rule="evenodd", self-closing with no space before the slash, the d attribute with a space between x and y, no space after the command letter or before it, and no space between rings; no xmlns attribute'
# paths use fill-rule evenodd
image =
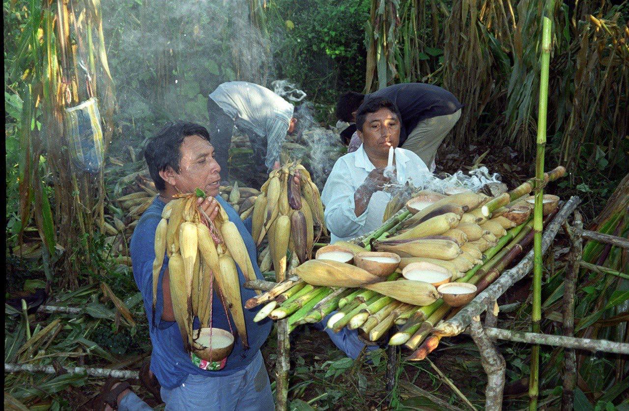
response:
<svg viewBox="0 0 629 411"><path fill-rule="evenodd" d="M64 128L75 165L84 172L98 173L103 165L104 146L96 97L65 109Z"/></svg>

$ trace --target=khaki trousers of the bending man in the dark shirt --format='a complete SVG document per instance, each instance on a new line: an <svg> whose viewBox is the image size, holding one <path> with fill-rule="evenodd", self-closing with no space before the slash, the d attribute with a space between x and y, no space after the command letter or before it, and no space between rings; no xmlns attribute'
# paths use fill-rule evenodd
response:
<svg viewBox="0 0 629 411"><path fill-rule="evenodd" d="M437 116L427 118L417 123L417 126L408 134L408 138L404 141L402 148L411 150L420 156L421 160L426 164L430 171L435 171L435 155L437 149L441 145L448 132L454 128L461 117L461 109L446 114L445 116Z"/></svg>

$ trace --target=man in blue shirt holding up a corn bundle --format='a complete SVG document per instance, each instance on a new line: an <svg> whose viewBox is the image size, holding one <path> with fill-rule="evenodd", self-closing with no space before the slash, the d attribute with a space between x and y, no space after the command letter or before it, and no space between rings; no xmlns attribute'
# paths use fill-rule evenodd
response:
<svg viewBox="0 0 629 411"><path fill-rule="evenodd" d="M148 324L152 318L152 265L155 258L155 229L161 219L162 210L177 193L190 193L202 189L207 195L199 199L200 209L210 219L218 213L218 203L227 212L243 238L258 278L263 279L257 265L256 249L250 227L240 220L238 213L218 195L221 168L214 158L214 148L209 141L208 131L198 124L171 124L148 142L145 158L148 170L160 195L144 212L131 238L131 260L133 276L142 292ZM218 202L218 203L217 203ZM150 370L159 381L161 397L167 409L175 410L272 410L274 402L269 376L262 361L260 347L269 336L272 323L269 319L253 322L260 307L244 310L249 348L244 348L240 339L235 339L233 351L226 359L225 367L218 371L199 368L192 362L183 346L179 328L175 324L170 300L168 258L160 272L155 327L149 327L153 345ZM246 281L238 268L242 303L255 295L253 290L243 288ZM213 327L229 330L230 324L225 308L214 295L212 307ZM233 324L233 322L232 322ZM199 327L195 319L194 327ZM112 385L108 401L110 407L119 410L148 410L148 405L128 384ZM116 398L113 399L112 398ZM108 408L105 408L108 409Z"/></svg>

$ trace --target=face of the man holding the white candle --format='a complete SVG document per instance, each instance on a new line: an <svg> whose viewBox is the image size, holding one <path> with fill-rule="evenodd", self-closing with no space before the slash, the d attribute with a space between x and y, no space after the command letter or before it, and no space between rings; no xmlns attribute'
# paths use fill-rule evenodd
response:
<svg viewBox="0 0 629 411"><path fill-rule="evenodd" d="M376 112L370 112L365 118L365 124L358 135L362 138L367 154L377 156L389 155L389 148L399 144L399 119L398 116L386 107Z"/></svg>

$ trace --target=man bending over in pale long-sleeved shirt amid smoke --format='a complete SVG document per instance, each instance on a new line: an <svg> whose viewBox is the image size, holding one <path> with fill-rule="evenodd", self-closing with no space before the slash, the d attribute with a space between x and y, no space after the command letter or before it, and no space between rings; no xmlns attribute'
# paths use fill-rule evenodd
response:
<svg viewBox="0 0 629 411"><path fill-rule="evenodd" d="M226 82L208 98L208 129L216 150L216 162L227 180L228 158L234 126L247 134L259 172L269 172L279 161L286 134L296 131L295 107L276 93L244 81Z"/></svg>

